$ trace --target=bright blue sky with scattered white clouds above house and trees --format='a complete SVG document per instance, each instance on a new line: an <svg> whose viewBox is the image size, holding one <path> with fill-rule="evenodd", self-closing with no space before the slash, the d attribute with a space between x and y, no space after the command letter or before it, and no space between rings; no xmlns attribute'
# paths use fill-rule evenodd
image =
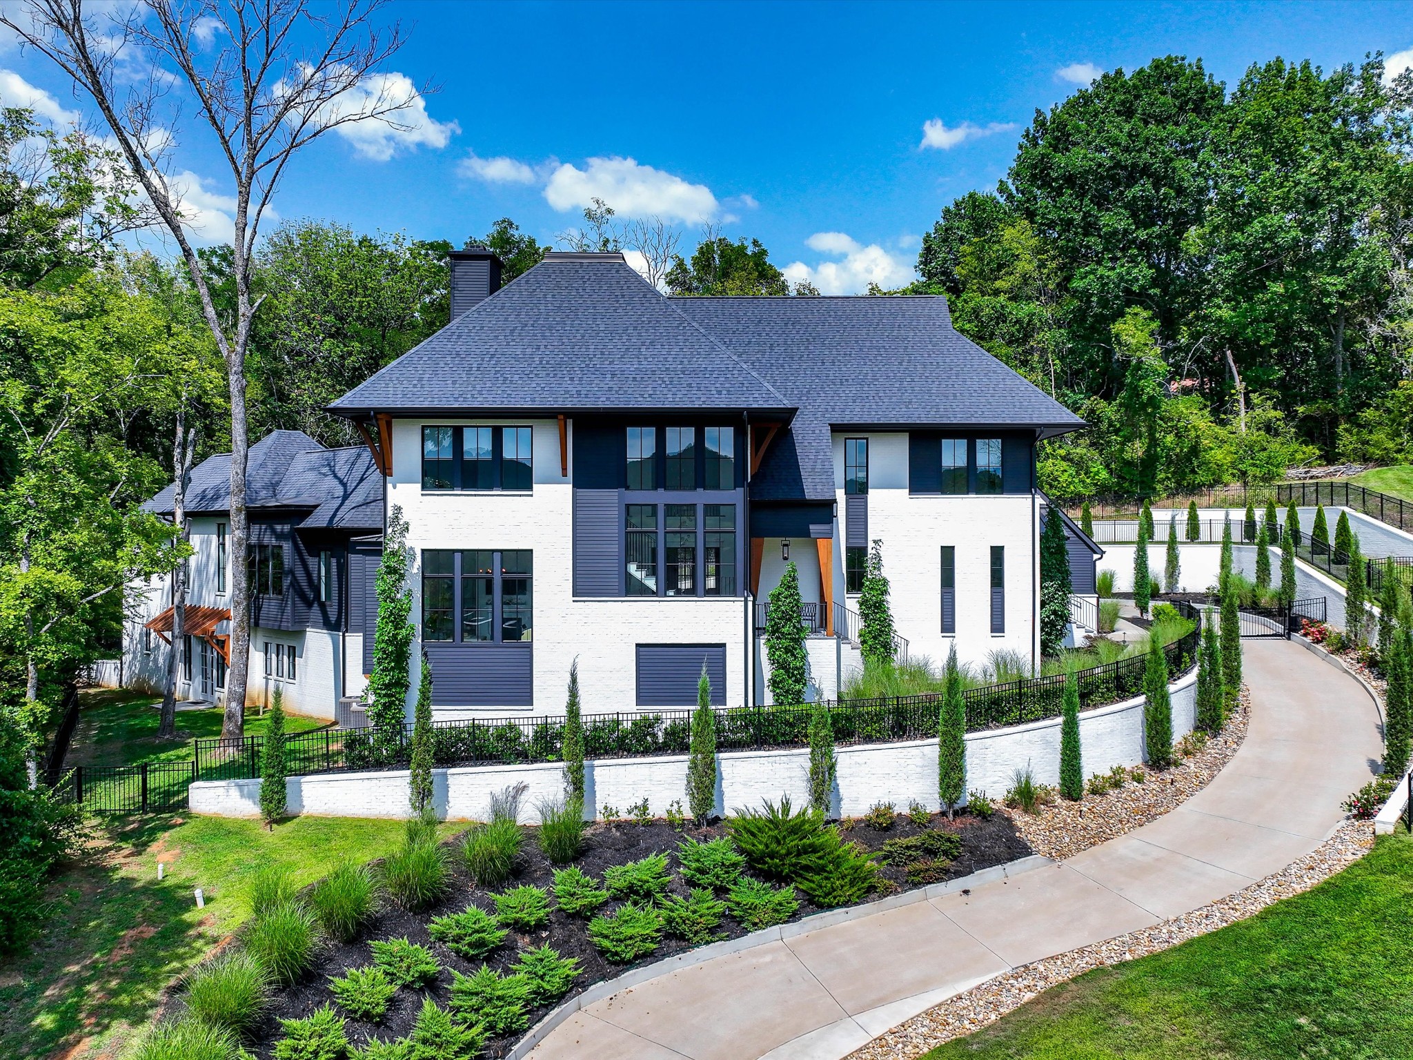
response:
<svg viewBox="0 0 1413 1060"><path fill-rule="evenodd" d="M281 218L461 243L500 216L541 240L599 194L694 245L756 236L825 293L911 276L941 208L1005 175L1019 131L1099 69L1201 57L1228 88L1276 55L1413 61L1413 4L471 4L403 0L389 71L438 90L414 129L328 136ZM1406 52L1406 54L1403 54ZM1402 55L1400 55L1402 54ZM35 54L0 52L0 100L89 116ZM195 127L174 163L218 239L219 158ZM632 160L632 161L630 161Z"/></svg>

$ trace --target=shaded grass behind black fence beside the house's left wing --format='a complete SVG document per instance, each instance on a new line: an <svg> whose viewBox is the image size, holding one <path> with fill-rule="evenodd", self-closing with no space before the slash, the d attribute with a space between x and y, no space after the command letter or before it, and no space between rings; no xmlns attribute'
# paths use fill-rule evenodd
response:
<svg viewBox="0 0 1413 1060"><path fill-rule="evenodd" d="M140 762L179 762L192 756L192 741L220 735L219 709L178 711L177 738L157 739L160 698L124 688L81 694L79 725L65 765L129 766ZM263 736L267 714L246 709L246 735ZM285 714L285 732L305 732L328 725L322 718Z"/></svg>

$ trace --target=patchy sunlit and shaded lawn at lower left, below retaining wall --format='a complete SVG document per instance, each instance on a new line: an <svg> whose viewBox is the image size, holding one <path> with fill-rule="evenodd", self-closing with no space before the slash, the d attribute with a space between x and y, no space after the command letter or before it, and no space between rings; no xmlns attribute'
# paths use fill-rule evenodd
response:
<svg viewBox="0 0 1413 1060"><path fill-rule="evenodd" d="M343 858L382 858L401 835L401 821L328 817L297 817L273 832L215 817L95 824L88 856L54 882L42 934L0 964L0 1057L120 1056L161 988L246 919L257 871L287 866L304 885Z"/></svg>

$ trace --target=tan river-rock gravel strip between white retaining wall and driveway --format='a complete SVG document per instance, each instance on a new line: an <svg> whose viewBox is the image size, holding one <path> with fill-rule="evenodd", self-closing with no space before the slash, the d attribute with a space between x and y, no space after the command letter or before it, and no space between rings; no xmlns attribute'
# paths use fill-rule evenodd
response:
<svg viewBox="0 0 1413 1060"><path fill-rule="evenodd" d="M1159 773L1143 766L1143 783L1129 782L1118 791L1102 796L1087 793L1078 803L1057 797L1053 804L1041 807L1039 815L1005 808L1002 813L1010 815L1020 838L1036 854L1056 861L1072 858L1115 835L1156 821L1207 787L1241 750L1249 718L1251 693L1242 685L1225 728L1210 738L1198 753L1171 769ZM1096 772L1095 766L1099 763L1085 763L1085 772Z"/></svg>

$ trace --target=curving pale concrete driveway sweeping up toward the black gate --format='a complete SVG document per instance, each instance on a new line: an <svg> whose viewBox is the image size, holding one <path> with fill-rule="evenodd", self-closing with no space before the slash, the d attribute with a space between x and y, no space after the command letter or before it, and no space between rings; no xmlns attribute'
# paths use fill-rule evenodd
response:
<svg viewBox="0 0 1413 1060"><path fill-rule="evenodd" d="M1246 742L1166 817L1070 861L681 968L588 1005L536 1060L835 1060L1012 967L1207 905L1314 849L1382 755L1348 674L1248 640ZM1095 769L1105 763L1091 763Z"/></svg>

